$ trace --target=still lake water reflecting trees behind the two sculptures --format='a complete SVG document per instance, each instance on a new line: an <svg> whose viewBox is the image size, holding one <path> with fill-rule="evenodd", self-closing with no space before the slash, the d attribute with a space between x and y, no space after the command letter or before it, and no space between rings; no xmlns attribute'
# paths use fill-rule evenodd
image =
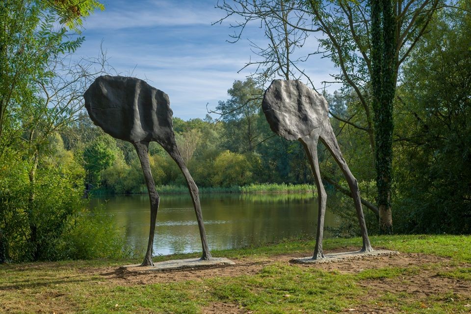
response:
<svg viewBox="0 0 471 314"><path fill-rule="evenodd" d="M200 202L211 250L315 235L317 199L312 194L201 194ZM128 244L144 253L150 220L148 196L106 196L90 201L92 208L97 205L113 215ZM325 226L338 224L339 218L327 209ZM154 255L194 251L201 251L201 242L189 195L161 195Z"/></svg>

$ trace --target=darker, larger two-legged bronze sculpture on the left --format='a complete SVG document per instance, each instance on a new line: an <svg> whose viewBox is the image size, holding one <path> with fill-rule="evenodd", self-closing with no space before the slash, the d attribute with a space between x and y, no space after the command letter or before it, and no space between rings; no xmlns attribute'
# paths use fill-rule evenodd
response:
<svg viewBox="0 0 471 314"><path fill-rule="evenodd" d="M203 246L202 260L211 259L201 213L198 187L177 148L168 95L138 78L101 76L83 95L92 121L115 138L131 142L139 156L151 203L151 226L142 266L154 265L152 248L159 196L149 165L149 142L156 141L182 170L190 191Z"/></svg>

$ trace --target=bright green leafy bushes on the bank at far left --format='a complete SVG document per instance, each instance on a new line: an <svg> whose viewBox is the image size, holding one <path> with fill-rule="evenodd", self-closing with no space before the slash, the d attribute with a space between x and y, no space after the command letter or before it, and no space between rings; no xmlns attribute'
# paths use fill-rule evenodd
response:
<svg viewBox="0 0 471 314"><path fill-rule="evenodd" d="M0 165L0 262L124 254L111 221L84 209L83 171L43 158L31 181L31 165L15 152Z"/></svg>

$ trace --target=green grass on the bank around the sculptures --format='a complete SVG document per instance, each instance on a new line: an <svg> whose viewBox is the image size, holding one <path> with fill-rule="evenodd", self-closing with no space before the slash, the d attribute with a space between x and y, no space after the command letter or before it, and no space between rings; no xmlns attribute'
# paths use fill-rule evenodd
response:
<svg viewBox="0 0 471 314"><path fill-rule="evenodd" d="M371 237L375 247L450 258L457 267L444 271L428 265L437 276L458 278L470 285L471 236L396 235ZM324 249L360 245L359 238L326 239ZM310 253L313 241L285 241L257 248L213 252L214 256L260 258ZM184 255L185 257L197 255ZM176 259L182 256L172 256ZM155 261L169 259L156 258ZM89 267L130 261L74 261L0 265L0 311L8 313L201 313L212 302L243 306L244 313L339 313L361 303L381 304L403 313L469 313L470 296L453 292L416 299L407 292L369 298L367 280L417 273L415 267L366 269L357 274L328 272L276 262L255 275L215 277L203 281L122 287L107 284ZM468 263L463 265L463 263ZM114 268L111 268L113 270ZM366 301L365 301L366 300ZM451 302L452 300L453 302ZM353 312L355 313L355 312ZM357 312L358 313L358 312Z"/></svg>

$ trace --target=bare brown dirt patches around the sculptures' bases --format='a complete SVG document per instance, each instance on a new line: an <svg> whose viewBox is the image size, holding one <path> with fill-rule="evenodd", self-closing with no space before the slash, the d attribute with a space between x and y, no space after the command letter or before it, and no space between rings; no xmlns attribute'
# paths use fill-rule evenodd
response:
<svg viewBox="0 0 471 314"><path fill-rule="evenodd" d="M338 251L348 251L348 249L343 248ZM266 265L275 262L289 262L293 258L303 256L304 255L279 255L269 258L241 258L233 259L236 263L234 266L172 272L131 273L115 270L113 268L101 268L90 271L95 272L95 274L97 271L100 272L104 281L119 286L148 285L186 280L203 281L206 278L212 277L252 275L257 274ZM327 271L339 271L340 273L349 274L356 274L366 269L384 267L402 267L411 270L408 271L406 275L399 276L398 278L361 280L360 285L367 289L368 298L371 300L379 298L387 292L407 292L419 299L430 295L450 293L450 291L462 297L471 297L470 282L437 276L437 273L440 271L447 271L456 267L471 267L471 265L456 265L456 263L451 262L449 259L433 255L401 253L396 256L365 257L354 261L296 265L298 267L315 267ZM248 312L236 304L216 302L205 308L203 313L226 314ZM363 305L355 309L346 309L345 313L399 313L399 310L383 308L382 304L378 303L374 307Z"/></svg>

